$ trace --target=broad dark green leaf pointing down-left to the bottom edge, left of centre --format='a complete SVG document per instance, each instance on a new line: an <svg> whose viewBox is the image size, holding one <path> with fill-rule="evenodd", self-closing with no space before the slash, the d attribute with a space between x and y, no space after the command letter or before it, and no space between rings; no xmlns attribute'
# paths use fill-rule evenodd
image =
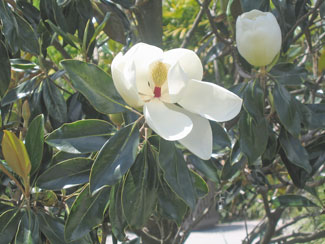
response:
<svg viewBox="0 0 325 244"><path fill-rule="evenodd" d="M102 223L108 206L110 188L105 187L91 195L89 186L74 201L65 224L64 236L67 241L78 240Z"/></svg>

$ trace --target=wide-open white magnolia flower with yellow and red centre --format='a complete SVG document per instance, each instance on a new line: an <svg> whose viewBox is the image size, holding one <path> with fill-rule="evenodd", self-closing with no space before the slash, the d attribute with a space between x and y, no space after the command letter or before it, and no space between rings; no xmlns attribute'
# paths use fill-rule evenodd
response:
<svg viewBox="0 0 325 244"><path fill-rule="evenodd" d="M169 141L178 140L202 159L212 154L212 131L207 119L227 121L240 111L234 93L201 81L203 67L191 50L134 45L112 62L117 91L132 107L143 107L147 124Z"/></svg>

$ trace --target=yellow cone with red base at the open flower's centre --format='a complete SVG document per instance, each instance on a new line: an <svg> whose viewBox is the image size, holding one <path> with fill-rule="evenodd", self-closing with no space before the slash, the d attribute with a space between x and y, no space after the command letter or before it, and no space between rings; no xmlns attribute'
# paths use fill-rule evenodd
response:
<svg viewBox="0 0 325 244"><path fill-rule="evenodd" d="M163 62L156 62L151 69L152 81L155 83L153 91L155 97L161 96L161 86L166 82L168 74L168 67Z"/></svg>

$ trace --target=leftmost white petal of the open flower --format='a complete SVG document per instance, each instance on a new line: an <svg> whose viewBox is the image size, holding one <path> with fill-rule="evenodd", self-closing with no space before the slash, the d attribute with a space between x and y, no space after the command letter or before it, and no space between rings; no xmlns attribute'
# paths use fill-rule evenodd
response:
<svg viewBox="0 0 325 244"><path fill-rule="evenodd" d="M136 88L135 66L126 64L125 57L119 53L111 65L113 82L122 98L132 107L143 106Z"/></svg>

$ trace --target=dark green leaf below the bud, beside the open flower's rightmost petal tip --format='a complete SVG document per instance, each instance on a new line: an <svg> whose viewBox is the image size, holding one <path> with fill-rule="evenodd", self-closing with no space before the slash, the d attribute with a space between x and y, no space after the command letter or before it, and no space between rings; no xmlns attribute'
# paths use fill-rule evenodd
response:
<svg viewBox="0 0 325 244"><path fill-rule="evenodd" d="M244 91L244 108L258 122L264 117L264 92L258 81L250 81Z"/></svg>

